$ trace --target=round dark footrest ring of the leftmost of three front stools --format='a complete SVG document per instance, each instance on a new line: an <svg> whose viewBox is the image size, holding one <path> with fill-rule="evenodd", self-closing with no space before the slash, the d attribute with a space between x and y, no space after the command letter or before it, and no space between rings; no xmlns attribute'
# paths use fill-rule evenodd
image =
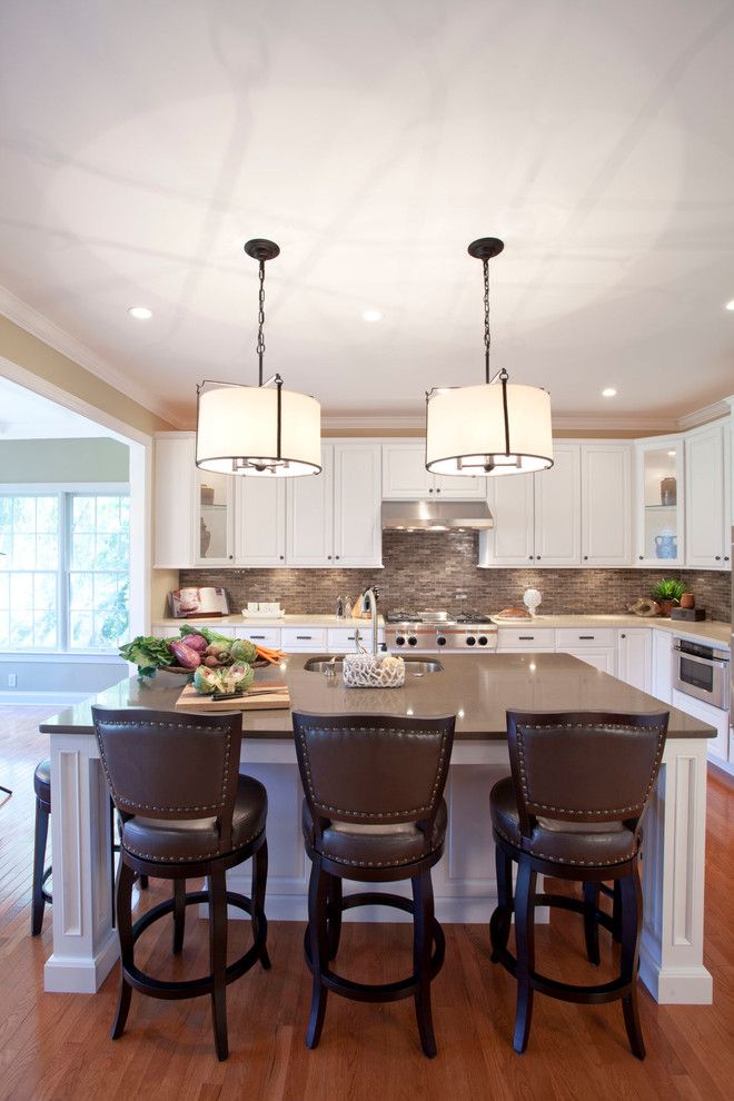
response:
<svg viewBox="0 0 734 1101"><path fill-rule="evenodd" d="M208 891L191 891L185 896L185 903L187 906L197 905L201 902L209 901ZM173 899L167 899L165 902L160 902L157 906L148 910L141 918L139 918L132 926L132 942L135 942L141 936L141 934L158 921L159 918L165 918L166 914L172 913L173 911ZM226 972L226 982L229 985L235 979L239 979L244 975L246 971L249 971L260 958L261 949L265 945L267 933L268 933L268 922L265 913L262 911L252 914L252 902L250 899L246 897L244 894L237 894L235 891L227 892L227 904L229 906L235 906L237 910L244 910L251 918L255 919L256 924L256 935L252 945L245 952L238 960L230 963ZM169 982L163 979L153 979L152 975L147 974L136 966L122 966L122 973L126 981L132 986L133 990L139 990L145 994L150 994L151 998L166 998L166 999L178 999L178 998L198 998L202 994L210 994L214 991L214 978L209 975L201 975L199 979L187 979L179 980L176 982Z"/></svg>

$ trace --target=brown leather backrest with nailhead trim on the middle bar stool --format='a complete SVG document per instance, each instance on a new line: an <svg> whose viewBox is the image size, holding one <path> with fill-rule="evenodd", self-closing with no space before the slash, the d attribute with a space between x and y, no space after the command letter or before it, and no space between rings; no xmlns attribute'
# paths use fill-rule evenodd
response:
<svg viewBox="0 0 734 1101"><path fill-rule="evenodd" d="M446 785L455 715L314 715L294 712L304 792L324 820L433 825Z"/></svg>

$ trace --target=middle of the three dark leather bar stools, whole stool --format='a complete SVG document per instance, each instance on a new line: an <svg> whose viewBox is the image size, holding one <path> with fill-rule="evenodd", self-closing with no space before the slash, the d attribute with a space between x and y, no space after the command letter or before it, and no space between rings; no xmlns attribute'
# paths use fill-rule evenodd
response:
<svg viewBox="0 0 734 1101"><path fill-rule="evenodd" d="M306 962L313 975L308 1048L319 1042L328 991L363 1002L414 998L420 1044L436 1054L430 983L444 963L430 869L446 836L444 786L455 716L311 715L294 712L304 785L302 826L311 860ZM341 880L410 880L413 901L375 891L343 896ZM329 966L341 914L395 906L413 915L413 974L390 983L351 982Z"/></svg>

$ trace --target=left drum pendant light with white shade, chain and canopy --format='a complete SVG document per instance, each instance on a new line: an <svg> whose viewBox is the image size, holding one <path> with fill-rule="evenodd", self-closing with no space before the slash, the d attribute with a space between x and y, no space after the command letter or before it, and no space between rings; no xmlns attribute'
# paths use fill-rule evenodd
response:
<svg viewBox="0 0 734 1101"><path fill-rule="evenodd" d="M197 386L196 465L217 474L296 478L321 473L321 407L282 388L280 375L262 377L265 264L280 252L274 241L251 240L245 251L259 265L258 385L206 380Z"/></svg>

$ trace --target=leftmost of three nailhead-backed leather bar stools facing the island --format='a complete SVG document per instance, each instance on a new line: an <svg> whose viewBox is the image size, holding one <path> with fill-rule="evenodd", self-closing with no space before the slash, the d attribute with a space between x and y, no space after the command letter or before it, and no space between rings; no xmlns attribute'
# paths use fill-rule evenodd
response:
<svg viewBox="0 0 734 1101"><path fill-rule="evenodd" d="M152 998L209 994L219 1060L227 1059L227 985L255 963L270 966L266 948L265 891L268 801L265 787L239 775L242 718L238 714L179 716L171 712L92 707L102 765L120 816L117 922L120 995L111 1035L122 1035L133 990ZM227 890L226 872L252 857L251 899ZM173 897L135 924L136 873L173 880ZM206 891L186 893L186 879L208 876ZM141 933L173 915L173 952L184 948L186 906L209 904L210 973L163 982L135 963ZM252 922L252 946L227 965L227 906Z"/></svg>

